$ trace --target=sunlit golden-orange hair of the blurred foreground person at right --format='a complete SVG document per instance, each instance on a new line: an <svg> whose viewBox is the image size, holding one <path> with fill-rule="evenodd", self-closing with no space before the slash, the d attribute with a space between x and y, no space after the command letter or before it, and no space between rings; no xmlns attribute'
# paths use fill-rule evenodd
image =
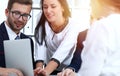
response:
<svg viewBox="0 0 120 76"><path fill-rule="evenodd" d="M120 13L120 0L91 0L91 22L115 12Z"/></svg>

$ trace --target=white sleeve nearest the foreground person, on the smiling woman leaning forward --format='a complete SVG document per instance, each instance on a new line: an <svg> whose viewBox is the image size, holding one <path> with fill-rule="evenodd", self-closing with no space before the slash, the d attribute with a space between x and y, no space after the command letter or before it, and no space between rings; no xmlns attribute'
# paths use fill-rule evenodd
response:
<svg viewBox="0 0 120 76"><path fill-rule="evenodd" d="M68 30L68 32L66 32L66 35L61 41L61 44L59 45L56 52L52 56L53 58L60 61L60 63L64 61L66 64L68 64L67 59L68 58L70 59L73 56L73 53L76 48L78 34L80 31L85 30L85 27L82 28L81 25L77 23L71 23L70 26L71 26L70 29Z"/></svg>

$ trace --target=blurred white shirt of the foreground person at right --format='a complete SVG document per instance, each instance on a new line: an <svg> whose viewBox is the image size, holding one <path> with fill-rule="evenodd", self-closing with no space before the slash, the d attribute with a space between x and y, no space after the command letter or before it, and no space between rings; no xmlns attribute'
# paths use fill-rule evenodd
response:
<svg viewBox="0 0 120 76"><path fill-rule="evenodd" d="M120 76L120 14L96 21L84 46L77 76Z"/></svg>

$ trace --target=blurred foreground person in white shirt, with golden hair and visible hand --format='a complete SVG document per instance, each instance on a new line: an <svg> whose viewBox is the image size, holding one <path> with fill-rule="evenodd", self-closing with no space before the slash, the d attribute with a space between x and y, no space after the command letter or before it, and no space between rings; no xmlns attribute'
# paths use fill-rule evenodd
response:
<svg viewBox="0 0 120 76"><path fill-rule="evenodd" d="M77 73L57 76L120 76L120 0L91 0L92 18Z"/></svg>

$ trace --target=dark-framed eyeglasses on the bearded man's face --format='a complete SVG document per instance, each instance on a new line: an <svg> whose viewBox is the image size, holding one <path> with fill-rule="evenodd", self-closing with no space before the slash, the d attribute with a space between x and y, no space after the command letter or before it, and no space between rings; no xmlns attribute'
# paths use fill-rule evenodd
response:
<svg viewBox="0 0 120 76"><path fill-rule="evenodd" d="M21 16L22 16L22 19L24 21L27 21L31 18L31 15L30 14L21 14L19 11L10 11L12 13L12 16L15 18L15 19L19 19Z"/></svg>

